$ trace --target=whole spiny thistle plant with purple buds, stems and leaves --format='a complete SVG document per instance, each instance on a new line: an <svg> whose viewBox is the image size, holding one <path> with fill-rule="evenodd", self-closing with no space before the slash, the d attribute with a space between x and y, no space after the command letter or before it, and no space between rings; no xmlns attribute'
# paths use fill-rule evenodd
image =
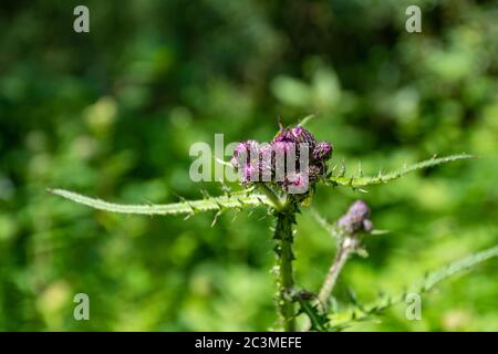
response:
<svg viewBox="0 0 498 354"><path fill-rule="evenodd" d="M459 154L446 157L433 157L411 166L375 176L346 176L344 165L336 171L331 168L333 146L329 142L319 142L301 124L291 127L280 126L277 135L268 143L246 140L235 148L230 165L240 174L241 189L218 197L205 196L199 200L181 199L168 205L120 205L90 198L63 189L50 189L50 192L72 201L111 212L138 215L185 215L193 216L204 211L215 211L215 221L228 209L249 207L266 208L274 218L273 240L277 264L276 304L279 323L283 331L339 331L357 321L370 319L387 308L404 301L406 294L383 296L372 304L359 304L352 296L352 305L342 312L331 309L334 285L347 260L353 254L366 257L364 238L383 231L374 228L374 216L363 200L351 204L349 210L334 223L328 222L320 214L310 208L315 186L352 188L366 191L373 185L391 183L402 176L423 168L467 159L470 155ZM324 277L323 285L315 292L298 289L293 272L293 240L297 214L309 208L317 221L336 240L338 251ZM430 290L442 280L485 260L498 256L498 247L481 251L464 260L449 264L443 270L426 274L416 285L422 293ZM297 317L305 316L304 325L298 327Z"/></svg>

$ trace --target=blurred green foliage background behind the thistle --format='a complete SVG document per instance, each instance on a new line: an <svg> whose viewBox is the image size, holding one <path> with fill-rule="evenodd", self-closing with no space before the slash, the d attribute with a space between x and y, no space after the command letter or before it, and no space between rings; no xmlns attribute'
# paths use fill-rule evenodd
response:
<svg viewBox="0 0 498 354"><path fill-rule="evenodd" d="M73 31L90 8L91 32ZM422 9L422 33L405 10ZM365 174L471 153L361 195L320 187L335 220L355 198L373 208L370 258L336 288L360 301L397 293L425 271L498 240L496 1L2 1L0 6L0 330L238 331L274 327L272 220L264 210L138 217L50 196L73 189L121 202L199 198L195 142L268 140L309 128L333 163ZM237 218L235 218L237 216ZM235 219L235 220L234 220ZM299 217L295 275L317 290L334 242ZM490 261L357 331L497 331ZM73 296L90 295L90 321Z"/></svg>

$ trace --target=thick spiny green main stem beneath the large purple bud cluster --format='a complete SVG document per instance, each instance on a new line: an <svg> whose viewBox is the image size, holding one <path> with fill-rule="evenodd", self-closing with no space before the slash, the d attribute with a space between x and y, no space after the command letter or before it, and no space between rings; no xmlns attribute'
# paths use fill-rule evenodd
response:
<svg viewBox="0 0 498 354"><path fill-rule="evenodd" d="M277 241L276 253L278 257L278 309L283 331L295 331L295 309L292 299L294 278L292 271L292 223L293 212L278 212L274 240Z"/></svg>

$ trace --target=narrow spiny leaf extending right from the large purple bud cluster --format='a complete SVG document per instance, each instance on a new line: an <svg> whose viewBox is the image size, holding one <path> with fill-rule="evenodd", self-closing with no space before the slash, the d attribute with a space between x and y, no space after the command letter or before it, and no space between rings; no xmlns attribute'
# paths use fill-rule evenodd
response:
<svg viewBox="0 0 498 354"><path fill-rule="evenodd" d="M417 169L428 168L428 167L437 166L440 164L455 162L458 159L473 158L473 157L474 156L467 155L467 154L450 155L450 156L439 157L439 158L433 157L430 159L421 162L415 165L403 166L402 168L391 171L388 174L380 173L377 176L365 176L365 177L362 177L362 176L346 177L346 176L344 176L345 168L342 168L339 176L332 176L332 177L330 177L330 180L335 185L353 187L353 188L364 187L364 186L370 186L370 185L380 185L380 184L385 184L387 181L403 177L404 175L415 171Z"/></svg>

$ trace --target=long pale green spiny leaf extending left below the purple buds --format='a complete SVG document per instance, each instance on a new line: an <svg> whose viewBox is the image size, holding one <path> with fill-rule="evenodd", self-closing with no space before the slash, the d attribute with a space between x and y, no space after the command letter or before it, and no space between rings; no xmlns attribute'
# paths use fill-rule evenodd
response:
<svg viewBox="0 0 498 354"><path fill-rule="evenodd" d="M139 215L179 215L186 214L188 216L195 212L221 210L224 208L241 208L253 207L260 205L271 206L271 202L264 195L240 195L232 194L231 196L207 197L203 200L181 200L180 202L167 205L122 205L108 202L97 198L86 197L73 191L64 189L49 189L49 192L72 200L87 207L121 214L139 214Z"/></svg>

